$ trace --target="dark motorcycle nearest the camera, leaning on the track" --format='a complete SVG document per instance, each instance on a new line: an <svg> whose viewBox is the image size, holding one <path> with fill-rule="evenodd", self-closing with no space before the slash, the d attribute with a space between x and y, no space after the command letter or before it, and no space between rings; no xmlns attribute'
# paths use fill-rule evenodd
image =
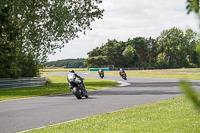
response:
<svg viewBox="0 0 200 133"><path fill-rule="evenodd" d="M72 81L70 84L73 86L72 93L76 96L77 99L81 99L82 97L88 98L87 91L84 87L84 82L81 82L81 79Z"/></svg>

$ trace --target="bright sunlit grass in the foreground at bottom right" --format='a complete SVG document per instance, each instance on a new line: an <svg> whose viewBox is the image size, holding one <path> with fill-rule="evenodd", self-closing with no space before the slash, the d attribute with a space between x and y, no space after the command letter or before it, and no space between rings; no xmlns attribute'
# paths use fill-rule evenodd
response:
<svg viewBox="0 0 200 133"><path fill-rule="evenodd" d="M185 96L101 114L31 133L198 133L200 114Z"/></svg>

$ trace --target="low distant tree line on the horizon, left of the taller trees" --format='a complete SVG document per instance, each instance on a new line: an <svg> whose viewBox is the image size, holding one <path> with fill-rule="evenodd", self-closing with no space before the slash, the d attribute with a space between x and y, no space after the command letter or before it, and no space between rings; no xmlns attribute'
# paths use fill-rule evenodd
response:
<svg viewBox="0 0 200 133"><path fill-rule="evenodd" d="M57 60L57 61L50 61L46 62L46 67L64 67L64 68L86 68L87 66L84 65L84 58L80 59L64 59L64 60Z"/></svg>

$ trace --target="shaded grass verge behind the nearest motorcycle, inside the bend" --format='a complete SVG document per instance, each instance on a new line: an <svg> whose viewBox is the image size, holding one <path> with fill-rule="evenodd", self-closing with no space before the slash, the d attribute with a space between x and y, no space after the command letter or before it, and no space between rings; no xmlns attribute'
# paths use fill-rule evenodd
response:
<svg viewBox="0 0 200 133"><path fill-rule="evenodd" d="M49 76L52 83L42 87L16 88L16 89L1 89L0 101L10 99L20 99L27 97L37 97L46 95L55 95L63 93L71 93L67 83L66 76ZM85 79L85 86L88 91L104 89L117 86L115 81L100 80L100 79Z"/></svg>

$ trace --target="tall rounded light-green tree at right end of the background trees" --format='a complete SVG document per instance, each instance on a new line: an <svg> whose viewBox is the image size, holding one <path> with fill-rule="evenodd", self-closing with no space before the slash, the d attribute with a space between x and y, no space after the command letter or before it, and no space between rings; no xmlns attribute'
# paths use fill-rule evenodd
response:
<svg viewBox="0 0 200 133"><path fill-rule="evenodd" d="M166 56L168 67L189 67L190 60L195 58L195 35L191 29L184 33L175 27L161 32L157 38L158 53Z"/></svg>

